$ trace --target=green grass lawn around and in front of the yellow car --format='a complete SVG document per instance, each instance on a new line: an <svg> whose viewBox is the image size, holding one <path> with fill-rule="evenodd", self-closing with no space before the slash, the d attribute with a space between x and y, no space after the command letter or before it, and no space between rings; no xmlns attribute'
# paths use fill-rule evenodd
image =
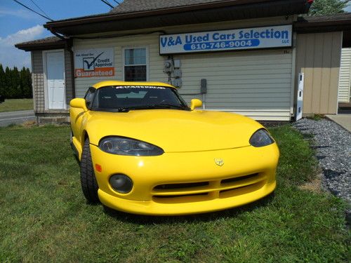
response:
<svg viewBox="0 0 351 263"><path fill-rule="evenodd" d="M347 262L345 203L300 189L316 160L291 126L274 196L218 213L107 213L81 194L69 127L0 128L0 262Z"/></svg>

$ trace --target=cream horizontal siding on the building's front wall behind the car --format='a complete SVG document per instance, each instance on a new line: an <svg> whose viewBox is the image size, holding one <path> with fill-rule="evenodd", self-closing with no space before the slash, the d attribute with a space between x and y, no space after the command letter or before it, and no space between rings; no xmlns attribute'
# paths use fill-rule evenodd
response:
<svg viewBox="0 0 351 263"><path fill-rule="evenodd" d="M287 21L260 19L250 21L257 25L272 25ZM273 22L274 20L274 22ZM291 21L289 21L291 22ZM240 28L253 26L249 22L223 22L190 27L169 27L172 32L195 32L211 29ZM111 39L74 40L74 49L114 48L116 75L112 78L77 78L76 96L83 97L88 86L107 79L123 80L122 48L147 46L149 50L149 81L166 82L164 60L159 55L159 36L139 34ZM214 53L175 55L181 60L183 86L180 94L199 93L200 79L207 79L206 109L237 112L258 120L289 121L291 117L292 49L248 50ZM184 95L187 102L201 95Z"/></svg>

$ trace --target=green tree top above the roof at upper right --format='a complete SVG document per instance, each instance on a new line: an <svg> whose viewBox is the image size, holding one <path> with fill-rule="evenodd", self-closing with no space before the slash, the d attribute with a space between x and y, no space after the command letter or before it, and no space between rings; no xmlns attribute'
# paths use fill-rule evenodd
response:
<svg viewBox="0 0 351 263"><path fill-rule="evenodd" d="M343 10L350 0L314 0L308 15L333 15Z"/></svg>

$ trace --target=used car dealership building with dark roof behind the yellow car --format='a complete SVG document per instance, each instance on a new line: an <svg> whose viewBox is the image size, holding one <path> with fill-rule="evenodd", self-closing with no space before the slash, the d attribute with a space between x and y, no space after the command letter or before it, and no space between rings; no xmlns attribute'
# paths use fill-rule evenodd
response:
<svg viewBox="0 0 351 263"><path fill-rule="evenodd" d="M181 2L125 0L49 22L58 36L16 45L32 53L39 122L67 121L69 100L107 79L172 83L205 109L261 121L337 113L350 15L300 18L310 6L301 0Z"/></svg>

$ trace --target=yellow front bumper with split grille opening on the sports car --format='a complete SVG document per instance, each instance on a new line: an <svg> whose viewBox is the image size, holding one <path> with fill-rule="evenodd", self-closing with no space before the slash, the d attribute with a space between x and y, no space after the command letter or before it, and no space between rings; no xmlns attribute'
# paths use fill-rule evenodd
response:
<svg viewBox="0 0 351 263"><path fill-rule="evenodd" d="M276 144L161 156L107 154L91 144L100 201L110 208L143 215L186 215L233 208L256 201L276 187ZM223 159L218 166L214 159ZM111 175L133 181L128 194L110 187Z"/></svg>

